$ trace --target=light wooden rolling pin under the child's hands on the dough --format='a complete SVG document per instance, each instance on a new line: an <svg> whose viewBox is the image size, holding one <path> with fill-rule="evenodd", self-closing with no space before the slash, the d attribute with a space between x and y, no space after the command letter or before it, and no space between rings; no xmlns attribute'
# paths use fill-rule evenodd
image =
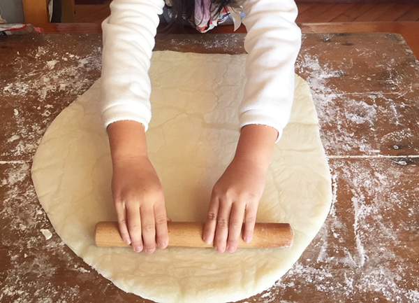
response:
<svg viewBox="0 0 419 303"><path fill-rule="evenodd" d="M169 246L210 248L202 239L203 223L168 222ZM96 246L128 247L122 240L117 222L99 222L95 231ZM242 237L239 248L279 248L293 244L293 230L288 223L256 223L252 241Z"/></svg>

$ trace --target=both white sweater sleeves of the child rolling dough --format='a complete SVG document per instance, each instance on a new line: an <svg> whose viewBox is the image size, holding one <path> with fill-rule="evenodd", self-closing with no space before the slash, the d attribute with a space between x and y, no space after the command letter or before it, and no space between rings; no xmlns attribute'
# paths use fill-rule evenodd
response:
<svg viewBox="0 0 419 303"><path fill-rule="evenodd" d="M152 118L148 75L154 36L164 0L113 0L102 23L102 118L105 127L135 120L147 130ZM247 51L240 127L250 124L277 129L288 122L294 94L294 64L301 45L294 0L247 0ZM198 93L198 92L197 92Z"/></svg>

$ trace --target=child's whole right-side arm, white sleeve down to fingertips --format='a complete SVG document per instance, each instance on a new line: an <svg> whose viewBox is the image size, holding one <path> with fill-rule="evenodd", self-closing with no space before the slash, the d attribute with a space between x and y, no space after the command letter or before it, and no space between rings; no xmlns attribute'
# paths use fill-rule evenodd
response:
<svg viewBox="0 0 419 303"><path fill-rule="evenodd" d="M252 237L274 142L291 113L294 64L301 46L294 0L248 0L244 12L248 55L242 131L233 162L214 186L203 235L220 252L237 249L243 216L243 238Z"/></svg>

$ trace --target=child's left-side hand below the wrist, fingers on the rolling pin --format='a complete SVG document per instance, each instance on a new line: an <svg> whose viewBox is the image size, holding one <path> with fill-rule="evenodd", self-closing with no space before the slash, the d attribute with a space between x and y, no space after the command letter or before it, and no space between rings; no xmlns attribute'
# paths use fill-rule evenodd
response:
<svg viewBox="0 0 419 303"><path fill-rule="evenodd" d="M146 253L168 246L163 190L147 156L114 161L112 193L126 244Z"/></svg>

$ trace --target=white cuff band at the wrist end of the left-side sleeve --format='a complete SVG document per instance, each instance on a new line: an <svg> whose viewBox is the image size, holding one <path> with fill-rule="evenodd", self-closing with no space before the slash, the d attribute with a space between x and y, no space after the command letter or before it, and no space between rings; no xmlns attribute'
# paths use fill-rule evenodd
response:
<svg viewBox="0 0 419 303"><path fill-rule="evenodd" d="M116 105L106 108L102 112L102 121L105 125L105 129L112 123L118 121L135 121L140 122L144 125L145 132L147 132L149 121L151 119L151 114L145 114L144 110L140 110L138 104L135 106L136 108L132 108L131 106L123 105Z"/></svg>

